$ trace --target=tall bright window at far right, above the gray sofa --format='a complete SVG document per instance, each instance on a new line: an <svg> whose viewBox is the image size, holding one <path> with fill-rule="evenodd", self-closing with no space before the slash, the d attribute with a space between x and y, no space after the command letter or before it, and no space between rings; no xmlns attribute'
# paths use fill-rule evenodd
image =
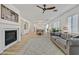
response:
<svg viewBox="0 0 79 59"><path fill-rule="evenodd" d="M68 31L78 32L78 15L68 17Z"/></svg>

